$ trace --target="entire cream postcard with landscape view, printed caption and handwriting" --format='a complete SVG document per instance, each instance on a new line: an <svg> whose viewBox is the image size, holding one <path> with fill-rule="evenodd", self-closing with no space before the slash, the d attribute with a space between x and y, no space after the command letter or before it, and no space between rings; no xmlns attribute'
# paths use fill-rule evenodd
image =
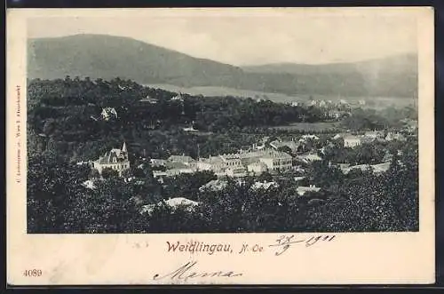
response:
<svg viewBox="0 0 444 294"><path fill-rule="evenodd" d="M433 282L432 25L10 11L8 281Z"/></svg>

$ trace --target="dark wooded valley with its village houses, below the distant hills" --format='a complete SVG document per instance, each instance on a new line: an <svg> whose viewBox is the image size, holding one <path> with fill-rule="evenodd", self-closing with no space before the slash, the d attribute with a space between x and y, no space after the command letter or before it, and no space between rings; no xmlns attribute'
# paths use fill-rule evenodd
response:
<svg viewBox="0 0 444 294"><path fill-rule="evenodd" d="M66 219L62 232L416 226L402 220L416 213L415 105L207 98L120 79L29 87L29 219L46 230L41 210ZM393 193L407 197L401 217Z"/></svg>

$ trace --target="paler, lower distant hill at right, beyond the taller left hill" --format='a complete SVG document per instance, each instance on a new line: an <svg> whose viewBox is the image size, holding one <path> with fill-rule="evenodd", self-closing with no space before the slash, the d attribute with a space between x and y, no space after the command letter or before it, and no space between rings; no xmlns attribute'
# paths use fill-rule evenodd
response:
<svg viewBox="0 0 444 294"><path fill-rule="evenodd" d="M280 63L242 68L249 73L289 74L299 79L316 77L322 84L329 84L334 91L358 91L362 87L369 96L416 97L417 56L396 55L377 60L354 63L330 63L321 65ZM361 82L357 80L361 77ZM364 90L363 90L364 91Z"/></svg>

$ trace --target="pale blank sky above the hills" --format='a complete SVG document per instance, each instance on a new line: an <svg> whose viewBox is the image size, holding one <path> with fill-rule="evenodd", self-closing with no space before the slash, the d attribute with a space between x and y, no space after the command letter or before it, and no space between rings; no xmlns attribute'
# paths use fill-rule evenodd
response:
<svg viewBox="0 0 444 294"><path fill-rule="evenodd" d="M319 64L416 52L416 19L380 13L91 13L28 20L29 37L128 36L232 65ZM281 10L282 11L282 10ZM369 10L370 12L370 10Z"/></svg>

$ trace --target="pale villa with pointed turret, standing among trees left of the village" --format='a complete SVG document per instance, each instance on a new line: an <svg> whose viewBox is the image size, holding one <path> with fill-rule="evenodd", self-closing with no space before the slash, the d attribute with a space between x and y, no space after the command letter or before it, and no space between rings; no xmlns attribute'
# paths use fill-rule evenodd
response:
<svg viewBox="0 0 444 294"><path fill-rule="evenodd" d="M114 148L105 155L100 156L98 160L93 162L93 166L100 174L104 169L108 168L117 171L119 176L122 176L122 171L130 168L126 143L123 142L122 149Z"/></svg>

